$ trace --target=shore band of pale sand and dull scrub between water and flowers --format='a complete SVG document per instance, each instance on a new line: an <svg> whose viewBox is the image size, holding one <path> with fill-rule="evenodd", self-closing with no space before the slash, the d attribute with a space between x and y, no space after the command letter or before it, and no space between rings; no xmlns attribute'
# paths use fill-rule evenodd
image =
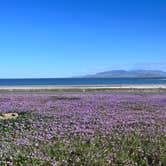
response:
<svg viewBox="0 0 166 166"><path fill-rule="evenodd" d="M0 92L166 92L166 84L0 86Z"/></svg>

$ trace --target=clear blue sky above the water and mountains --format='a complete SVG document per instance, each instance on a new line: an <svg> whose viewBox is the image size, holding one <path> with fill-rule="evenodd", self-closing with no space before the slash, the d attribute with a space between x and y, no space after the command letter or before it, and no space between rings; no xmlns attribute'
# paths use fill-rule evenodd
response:
<svg viewBox="0 0 166 166"><path fill-rule="evenodd" d="M0 0L0 78L166 71L165 0Z"/></svg>

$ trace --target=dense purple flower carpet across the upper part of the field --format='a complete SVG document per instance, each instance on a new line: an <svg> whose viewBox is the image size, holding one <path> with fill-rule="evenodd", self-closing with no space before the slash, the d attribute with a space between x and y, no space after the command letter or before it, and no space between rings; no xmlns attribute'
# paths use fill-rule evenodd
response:
<svg viewBox="0 0 166 166"><path fill-rule="evenodd" d="M73 99L73 100L72 100ZM109 133L114 129L166 131L165 95L66 94L0 95L0 112L32 112L50 117L29 123L38 133L63 135Z"/></svg>

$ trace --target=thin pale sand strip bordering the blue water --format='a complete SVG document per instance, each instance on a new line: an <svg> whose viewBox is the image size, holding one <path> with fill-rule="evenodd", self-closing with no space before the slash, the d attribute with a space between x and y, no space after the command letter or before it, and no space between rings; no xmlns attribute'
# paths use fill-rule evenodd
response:
<svg viewBox="0 0 166 166"><path fill-rule="evenodd" d="M166 84L145 84L145 85L71 85L71 86L0 86L0 90L70 90L70 89L166 89Z"/></svg>

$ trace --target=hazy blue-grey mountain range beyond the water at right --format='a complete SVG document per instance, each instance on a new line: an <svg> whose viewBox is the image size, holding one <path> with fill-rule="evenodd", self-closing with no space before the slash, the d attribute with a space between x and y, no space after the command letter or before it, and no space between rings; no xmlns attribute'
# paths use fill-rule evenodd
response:
<svg viewBox="0 0 166 166"><path fill-rule="evenodd" d="M160 70L111 70L96 73L93 75L86 75L84 78L151 78L151 77L166 77L166 72Z"/></svg>

